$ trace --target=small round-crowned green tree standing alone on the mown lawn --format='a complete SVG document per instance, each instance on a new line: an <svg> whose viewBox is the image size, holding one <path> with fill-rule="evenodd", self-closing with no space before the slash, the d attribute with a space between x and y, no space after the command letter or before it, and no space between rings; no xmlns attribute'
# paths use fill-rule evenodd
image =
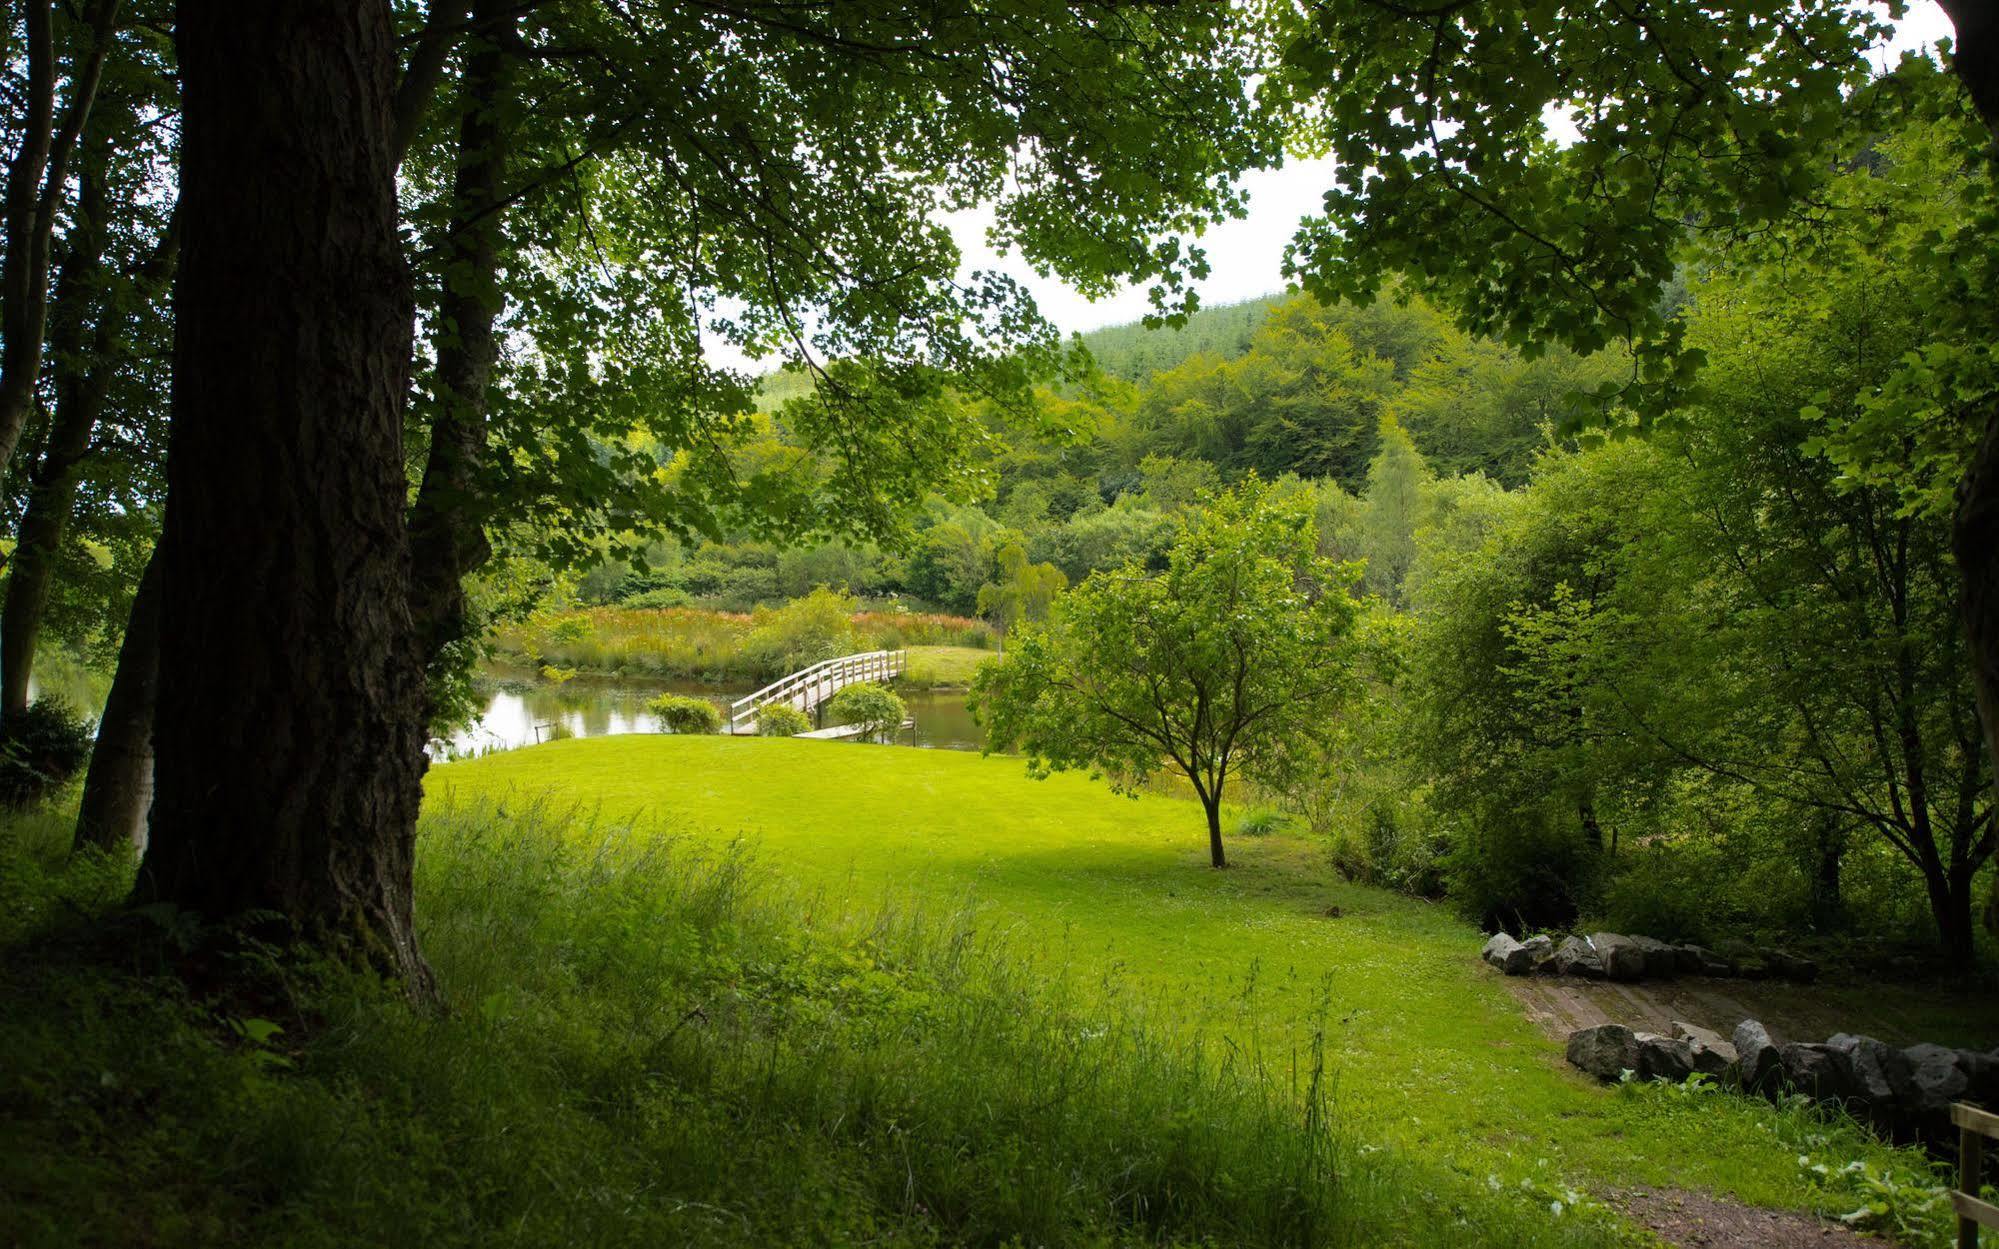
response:
<svg viewBox="0 0 1999 1249"><path fill-rule="evenodd" d="M1209 859L1227 867L1229 777L1331 733L1357 687L1355 570L1315 542L1301 496L1251 478L1211 498L1163 574L1091 576L974 677L988 751L1023 749L1033 775L1087 767L1121 793L1177 767L1207 813Z"/></svg>

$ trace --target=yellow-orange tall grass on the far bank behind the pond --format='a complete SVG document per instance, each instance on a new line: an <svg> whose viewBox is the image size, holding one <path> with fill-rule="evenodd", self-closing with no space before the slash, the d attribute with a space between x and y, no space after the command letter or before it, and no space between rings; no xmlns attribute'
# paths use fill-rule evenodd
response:
<svg viewBox="0 0 1999 1249"><path fill-rule="evenodd" d="M804 604L806 600L800 600ZM910 645L992 649L984 620L922 612L840 614L838 629L798 629L790 608L758 614L706 608L584 608L500 625L494 649L530 667L554 665L696 681L764 681L838 653Z"/></svg>

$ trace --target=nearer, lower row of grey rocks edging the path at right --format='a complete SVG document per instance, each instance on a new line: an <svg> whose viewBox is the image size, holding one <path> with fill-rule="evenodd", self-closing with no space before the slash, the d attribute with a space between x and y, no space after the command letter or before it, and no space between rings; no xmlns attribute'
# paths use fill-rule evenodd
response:
<svg viewBox="0 0 1999 1249"><path fill-rule="evenodd" d="M1735 1025L1735 1037L1673 1021L1671 1035L1603 1023L1569 1033L1569 1063L1615 1081L1683 1081L1703 1071L1731 1087L1765 1093L1805 1093L1841 1101L1849 1111L1901 1137L1941 1137L1951 1103L1999 1105L1999 1049L1909 1045L1895 1049L1873 1037L1837 1033L1827 1041L1779 1043L1755 1019Z"/></svg>

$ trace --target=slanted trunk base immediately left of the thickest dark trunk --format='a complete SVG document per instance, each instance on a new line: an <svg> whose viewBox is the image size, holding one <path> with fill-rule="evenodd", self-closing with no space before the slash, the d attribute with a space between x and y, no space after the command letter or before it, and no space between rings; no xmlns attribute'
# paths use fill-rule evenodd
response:
<svg viewBox="0 0 1999 1249"><path fill-rule="evenodd" d="M146 809L152 805L152 717L160 693L162 572L160 552L154 550L132 600L132 618L118 647L118 673L104 699L90 771L84 773L76 849L86 845L146 849Z"/></svg>

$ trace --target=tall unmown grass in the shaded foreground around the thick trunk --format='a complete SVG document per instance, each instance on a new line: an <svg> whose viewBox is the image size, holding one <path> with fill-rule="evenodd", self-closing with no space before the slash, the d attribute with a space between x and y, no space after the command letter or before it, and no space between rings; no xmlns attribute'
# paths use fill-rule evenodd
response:
<svg viewBox="0 0 1999 1249"><path fill-rule="evenodd" d="M546 801L426 813L418 897L442 1015L6 951L0 1243L1601 1243L1355 1147L1323 1043L1093 1009L968 907Z"/></svg>

